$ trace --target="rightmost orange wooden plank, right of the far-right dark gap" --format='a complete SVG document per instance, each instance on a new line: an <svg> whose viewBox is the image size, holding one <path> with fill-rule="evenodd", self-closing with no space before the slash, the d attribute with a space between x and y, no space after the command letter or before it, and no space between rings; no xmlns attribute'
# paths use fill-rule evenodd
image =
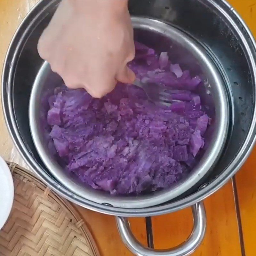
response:
<svg viewBox="0 0 256 256"><path fill-rule="evenodd" d="M256 0L229 0L256 36ZM236 175L238 202L246 256L256 255L256 148Z"/></svg>

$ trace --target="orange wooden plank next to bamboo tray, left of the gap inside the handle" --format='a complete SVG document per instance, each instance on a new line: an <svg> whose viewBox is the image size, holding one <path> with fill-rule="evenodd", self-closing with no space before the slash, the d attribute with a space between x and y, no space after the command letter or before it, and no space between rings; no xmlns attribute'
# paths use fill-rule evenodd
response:
<svg viewBox="0 0 256 256"><path fill-rule="evenodd" d="M132 256L133 254L123 244L116 227L116 220L98 212L92 212L77 206L78 211L91 229L102 256ZM147 245L145 218L129 219L134 236Z"/></svg>

